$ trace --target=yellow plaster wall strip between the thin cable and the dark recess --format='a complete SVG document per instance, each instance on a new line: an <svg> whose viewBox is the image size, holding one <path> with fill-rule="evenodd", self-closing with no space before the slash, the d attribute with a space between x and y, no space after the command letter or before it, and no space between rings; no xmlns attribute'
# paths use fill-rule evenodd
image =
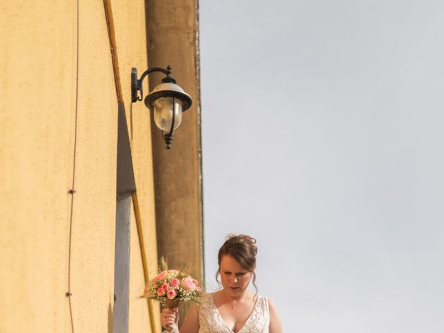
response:
<svg viewBox="0 0 444 333"><path fill-rule="evenodd" d="M117 96L103 1L80 2L71 292L77 332L112 332Z"/></svg>

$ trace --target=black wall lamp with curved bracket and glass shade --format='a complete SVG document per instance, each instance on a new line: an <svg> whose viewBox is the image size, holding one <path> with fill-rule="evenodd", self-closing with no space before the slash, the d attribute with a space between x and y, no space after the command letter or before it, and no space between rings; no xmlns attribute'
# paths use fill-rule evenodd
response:
<svg viewBox="0 0 444 333"><path fill-rule="evenodd" d="M153 112L154 122L160 130L162 137L167 143L167 149L171 148L173 142L173 130L179 127L182 122L182 112L189 109L192 100L191 96L176 85L176 80L171 77L171 67L167 69L153 67L144 71L137 79L137 69L131 69L131 102L142 101L144 92L142 82L145 76L155 71L160 71L166 76L162 78L162 83L157 85L152 92L145 97L145 105ZM140 92L140 95L139 95Z"/></svg>

